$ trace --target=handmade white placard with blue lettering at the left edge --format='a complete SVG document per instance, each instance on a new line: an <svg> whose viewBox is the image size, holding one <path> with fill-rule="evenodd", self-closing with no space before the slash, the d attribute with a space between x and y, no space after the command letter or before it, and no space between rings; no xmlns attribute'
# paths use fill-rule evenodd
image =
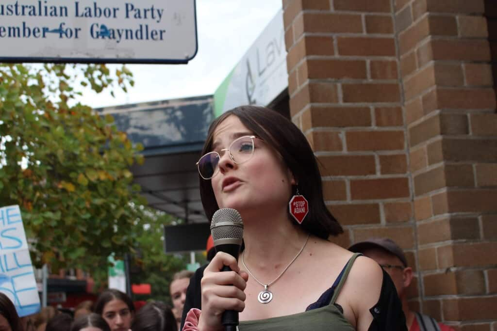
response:
<svg viewBox="0 0 497 331"><path fill-rule="evenodd" d="M40 310L40 297L19 206L0 208L0 292L22 316Z"/></svg>

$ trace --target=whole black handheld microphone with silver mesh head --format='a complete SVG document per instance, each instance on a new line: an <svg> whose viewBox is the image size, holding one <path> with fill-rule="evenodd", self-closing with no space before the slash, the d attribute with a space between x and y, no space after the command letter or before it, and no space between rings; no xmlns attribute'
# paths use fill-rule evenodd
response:
<svg viewBox="0 0 497 331"><path fill-rule="evenodd" d="M216 253L228 253L238 261L244 237L244 222L240 213L232 208L217 210L212 216L211 234ZM231 268L225 265L222 271L231 271ZM236 330L238 326L238 312L235 310L225 311L221 317L221 322L226 331Z"/></svg>

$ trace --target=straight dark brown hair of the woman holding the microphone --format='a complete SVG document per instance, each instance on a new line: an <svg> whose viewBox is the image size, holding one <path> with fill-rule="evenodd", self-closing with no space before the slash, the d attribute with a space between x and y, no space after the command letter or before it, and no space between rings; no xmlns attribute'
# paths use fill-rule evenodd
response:
<svg viewBox="0 0 497 331"><path fill-rule="evenodd" d="M342 233L342 227L325 205L321 174L309 142L299 128L277 112L258 106L241 106L227 111L209 127L201 155L212 151L214 132L229 116L238 117L249 131L281 155L285 166L298 182L299 194L309 201L309 213L301 224L302 228L324 239L329 235ZM219 206L212 191L211 181L204 180L200 175L199 181L200 197L206 216L210 220ZM297 186L293 188L293 194L296 190ZM296 222L290 215L289 218Z"/></svg>

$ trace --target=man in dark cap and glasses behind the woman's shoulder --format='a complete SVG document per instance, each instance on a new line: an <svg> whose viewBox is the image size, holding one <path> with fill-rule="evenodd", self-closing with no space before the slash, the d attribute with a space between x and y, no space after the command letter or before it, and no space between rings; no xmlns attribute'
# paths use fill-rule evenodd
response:
<svg viewBox="0 0 497 331"><path fill-rule="evenodd" d="M407 303L407 290L413 280L413 269L407 265L406 256L402 249L389 238L370 238L355 243L349 251L362 253L375 260L387 273L397 289L397 294L402 301L402 310L406 315L409 331L454 331L454 329L437 323L433 318L409 309Z"/></svg>

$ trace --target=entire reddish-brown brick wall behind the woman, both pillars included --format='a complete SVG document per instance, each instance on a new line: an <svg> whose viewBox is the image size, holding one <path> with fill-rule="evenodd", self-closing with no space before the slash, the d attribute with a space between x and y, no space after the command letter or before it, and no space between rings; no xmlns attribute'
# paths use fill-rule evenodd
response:
<svg viewBox="0 0 497 331"><path fill-rule="evenodd" d="M496 6L283 0L290 113L334 240L397 241L413 308L465 331L497 331Z"/></svg>

